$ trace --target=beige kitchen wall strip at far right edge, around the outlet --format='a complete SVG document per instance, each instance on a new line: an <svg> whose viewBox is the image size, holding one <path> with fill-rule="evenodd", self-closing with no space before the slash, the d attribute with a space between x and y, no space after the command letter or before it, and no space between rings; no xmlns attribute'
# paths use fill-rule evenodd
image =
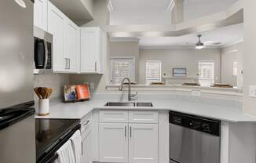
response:
<svg viewBox="0 0 256 163"><path fill-rule="evenodd" d="M243 55L243 110L256 115L256 98L249 96L250 85L256 85L256 1L243 0L244 55Z"/></svg>

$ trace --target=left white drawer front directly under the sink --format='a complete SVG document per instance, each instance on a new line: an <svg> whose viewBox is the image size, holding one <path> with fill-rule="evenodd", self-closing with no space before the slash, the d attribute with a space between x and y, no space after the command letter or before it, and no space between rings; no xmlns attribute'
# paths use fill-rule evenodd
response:
<svg viewBox="0 0 256 163"><path fill-rule="evenodd" d="M100 110L101 122L128 122L127 110Z"/></svg>

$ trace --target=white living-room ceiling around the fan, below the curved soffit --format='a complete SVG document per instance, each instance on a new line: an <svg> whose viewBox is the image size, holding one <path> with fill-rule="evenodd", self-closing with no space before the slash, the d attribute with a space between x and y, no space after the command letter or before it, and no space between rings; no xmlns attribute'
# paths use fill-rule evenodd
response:
<svg viewBox="0 0 256 163"><path fill-rule="evenodd" d="M226 45L232 45L243 40L243 24L237 24L229 27L221 27L214 31L205 31L201 41L221 42L219 45L211 47L221 48ZM147 47L193 47L198 41L197 34L188 34L181 37L160 37L160 38L140 38L139 45L142 48Z"/></svg>

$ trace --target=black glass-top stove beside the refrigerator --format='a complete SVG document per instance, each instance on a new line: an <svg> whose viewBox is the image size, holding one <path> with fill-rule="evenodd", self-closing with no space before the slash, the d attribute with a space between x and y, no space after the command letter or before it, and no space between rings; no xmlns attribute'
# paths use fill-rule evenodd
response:
<svg viewBox="0 0 256 163"><path fill-rule="evenodd" d="M56 151L79 128L78 119L35 119L37 162L56 158Z"/></svg>

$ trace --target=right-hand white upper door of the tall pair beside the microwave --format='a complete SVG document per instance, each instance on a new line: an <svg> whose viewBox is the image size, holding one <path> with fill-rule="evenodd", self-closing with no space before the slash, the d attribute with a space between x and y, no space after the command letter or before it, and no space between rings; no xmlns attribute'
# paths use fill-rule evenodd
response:
<svg viewBox="0 0 256 163"><path fill-rule="evenodd" d="M66 20L64 24L64 63L67 65L66 71L79 71L79 27L71 20Z"/></svg>

